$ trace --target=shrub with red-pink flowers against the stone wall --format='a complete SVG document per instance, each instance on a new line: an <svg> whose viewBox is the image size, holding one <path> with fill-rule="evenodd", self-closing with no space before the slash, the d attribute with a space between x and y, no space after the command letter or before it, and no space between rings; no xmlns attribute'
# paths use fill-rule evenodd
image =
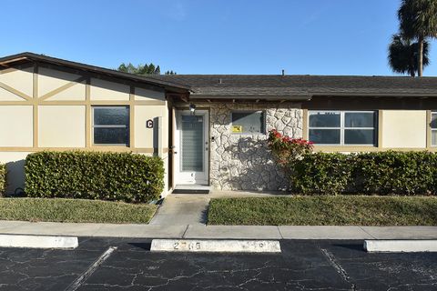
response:
<svg viewBox="0 0 437 291"><path fill-rule="evenodd" d="M288 166L291 161L312 153L313 146L305 139L281 135L276 129L272 129L269 131L269 148L279 166Z"/></svg>

